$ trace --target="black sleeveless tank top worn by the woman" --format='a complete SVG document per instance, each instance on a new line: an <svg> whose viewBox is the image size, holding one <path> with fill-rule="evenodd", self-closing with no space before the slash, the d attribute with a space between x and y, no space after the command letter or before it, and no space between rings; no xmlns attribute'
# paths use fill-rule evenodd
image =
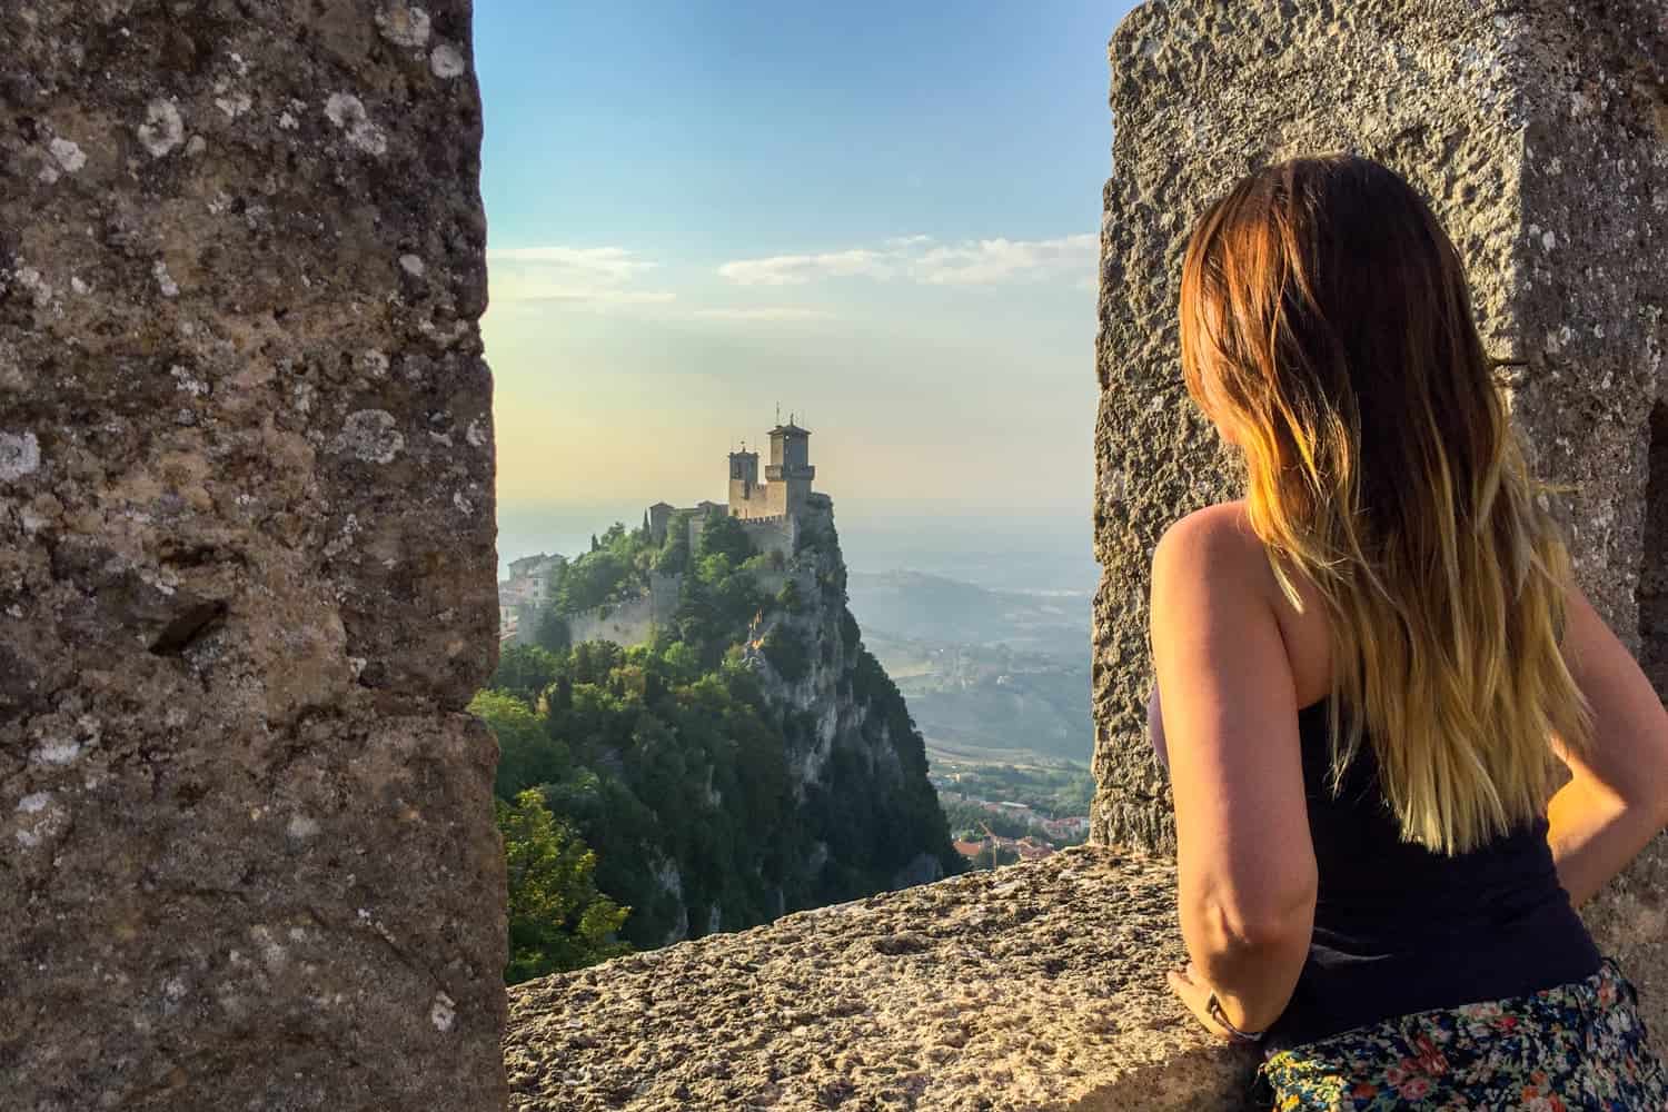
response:
<svg viewBox="0 0 1668 1112"><path fill-rule="evenodd" d="M1371 745L1331 794L1326 705L1298 712L1318 897L1309 955L1269 1052L1598 972L1601 955L1558 884L1545 815L1454 857L1403 842ZM1149 722L1163 755L1158 692Z"/></svg>

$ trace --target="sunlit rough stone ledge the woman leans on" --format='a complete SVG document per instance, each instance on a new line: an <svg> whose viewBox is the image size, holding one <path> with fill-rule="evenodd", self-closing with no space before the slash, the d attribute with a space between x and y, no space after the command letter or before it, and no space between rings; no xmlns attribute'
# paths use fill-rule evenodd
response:
<svg viewBox="0 0 1668 1112"><path fill-rule="evenodd" d="M1164 985L1176 872L1076 847L510 990L510 1109L1243 1109Z"/></svg>

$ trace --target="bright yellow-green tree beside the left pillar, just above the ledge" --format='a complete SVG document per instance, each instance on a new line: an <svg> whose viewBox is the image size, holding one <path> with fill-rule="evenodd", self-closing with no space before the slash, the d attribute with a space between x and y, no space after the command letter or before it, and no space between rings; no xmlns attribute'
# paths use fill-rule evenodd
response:
<svg viewBox="0 0 1668 1112"><path fill-rule="evenodd" d="M615 940L629 907L597 892L592 854L539 792L497 804L509 875L510 960L505 984L580 969L631 952Z"/></svg>

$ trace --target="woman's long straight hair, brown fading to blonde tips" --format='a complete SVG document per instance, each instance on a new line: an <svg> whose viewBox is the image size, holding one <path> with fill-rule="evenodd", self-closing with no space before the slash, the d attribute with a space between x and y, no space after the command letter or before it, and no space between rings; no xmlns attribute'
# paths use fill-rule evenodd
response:
<svg viewBox="0 0 1668 1112"><path fill-rule="evenodd" d="M1404 840L1483 845L1541 814L1591 714L1560 637L1570 559L1424 200L1368 158L1294 158L1199 220L1188 392L1234 430L1288 600L1331 619L1331 779L1368 739Z"/></svg>

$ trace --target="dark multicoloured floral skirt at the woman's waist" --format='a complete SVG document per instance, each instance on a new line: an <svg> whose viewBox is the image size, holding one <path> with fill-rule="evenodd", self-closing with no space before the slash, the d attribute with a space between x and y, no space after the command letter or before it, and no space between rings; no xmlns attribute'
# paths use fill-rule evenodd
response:
<svg viewBox="0 0 1668 1112"><path fill-rule="evenodd" d="M1606 957L1586 980L1278 1050L1259 1074L1278 1112L1668 1112L1668 1070L1645 1044L1636 1005Z"/></svg>

